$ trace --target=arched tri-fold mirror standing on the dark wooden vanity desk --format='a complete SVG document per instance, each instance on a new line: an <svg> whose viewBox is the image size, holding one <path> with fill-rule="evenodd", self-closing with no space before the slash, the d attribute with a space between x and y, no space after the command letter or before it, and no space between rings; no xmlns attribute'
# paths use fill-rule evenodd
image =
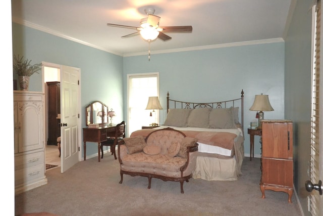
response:
<svg viewBox="0 0 323 216"><path fill-rule="evenodd" d="M93 101L85 108L86 126L89 124L107 124L107 111L109 109L100 101Z"/></svg>

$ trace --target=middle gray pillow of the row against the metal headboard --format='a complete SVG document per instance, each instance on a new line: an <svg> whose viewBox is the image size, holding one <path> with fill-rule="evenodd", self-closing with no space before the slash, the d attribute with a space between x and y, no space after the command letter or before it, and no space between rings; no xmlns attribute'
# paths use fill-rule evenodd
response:
<svg viewBox="0 0 323 216"><path fill-rule="evenodd" d="M211 108L193 109L188 116L187 126L208 128L210 111Z"/></svg>

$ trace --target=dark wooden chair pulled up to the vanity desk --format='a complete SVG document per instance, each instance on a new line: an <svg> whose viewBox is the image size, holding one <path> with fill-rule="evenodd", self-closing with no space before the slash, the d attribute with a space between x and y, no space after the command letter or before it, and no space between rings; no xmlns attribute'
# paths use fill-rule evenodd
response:
<svg viewBox="0 0 323 216"><path fill-rule="evenodd" d="M101 158L103 158L103 146L110 146L111 154L115 156L115 159L117 159L116 154L116 145L118 143L118 140L122 140L125 138L125 131L126 131L126 123L125 121L122 121L121 123L116 125L116 136L115 137L109 137L106 141L101 142L100 148L101 148Z"/></svg>

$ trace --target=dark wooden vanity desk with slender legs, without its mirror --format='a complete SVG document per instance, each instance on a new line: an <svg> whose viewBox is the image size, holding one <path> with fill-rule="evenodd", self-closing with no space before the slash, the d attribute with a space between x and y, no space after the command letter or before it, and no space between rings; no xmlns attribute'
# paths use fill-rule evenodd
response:
<svg viewBox="0 0 323 216"><path fill-rule="evenodd" d="M106 141L108 137L115 137L116 125L109 126L109 124L101 125L97 128L84 127L83 128L83 142L84 142L84 160L86 160L86 142L97 143L98 161L100 162L101 151L100 144Z"/></svg>

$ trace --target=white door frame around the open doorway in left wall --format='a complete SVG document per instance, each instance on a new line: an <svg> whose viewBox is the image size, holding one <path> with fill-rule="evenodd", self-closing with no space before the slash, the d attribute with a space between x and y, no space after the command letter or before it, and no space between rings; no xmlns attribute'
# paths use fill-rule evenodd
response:
<svg viewBox="0 0 323 216"><path fill-rule="evenodd" d="M45 96L45 77L44 77L44 67L52 67L52 68L57 68L57 69L60 69L61 71L61 68L62 68L62 65L59 65L59 64L55 64L55 63L50 63L50 62L41 62L42 63L42 70L41 70L41 76L42 76L42 93L44 94ZM68 65L64 65L64 66L68 66ZM70 67L70 66L69 66ZM62 78L62 77L61 77ZM78 104L77 104L77 107L78 107L78 113L79 113L79 121L77 122L77 126L78 126L78 149L79 149L79 152L78 152L78 161L81 161L82 160L82 151L81 151L81 135L82 135L82 127L81 127L81 123L82 123L82 114L81 114L81 74L79 72L78 74L78 78L79 78L79 85L78 85L78 94L77 94L77 97L79 98L78 100ZM62 89L61 89L62 91ZM45 113L45 107L47 108L46 105L43 106L43 112ZM47 122L45 122L45 118L44 118L44 125L46 126L47 125ZM45 128L45 131L47 131L47 129ZM44 133L44 140L45 140L45 133ZM46 143L44 143L44 151L46 150L45 148L45 145ZM46 154L46 152L45 152ZM44 161L44 163L46 163L46 161ZM63 158L61 157L61 167L62 167L62 163L63 163Z"/></svg>

